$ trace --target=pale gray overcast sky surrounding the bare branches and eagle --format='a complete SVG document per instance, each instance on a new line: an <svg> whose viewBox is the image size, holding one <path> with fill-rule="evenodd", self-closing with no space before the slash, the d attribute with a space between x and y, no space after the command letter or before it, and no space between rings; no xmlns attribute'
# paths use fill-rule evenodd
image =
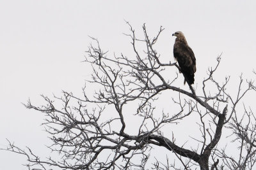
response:
<svg viewBox="0 0 256 170"><path fill-rule="evenodd" d="M255 1L0 1L0 147L6 138L20 147L31 146L45 156L44 115L26 110L30 98L42 104L40 94L61 90L79 93L90 68L81 62L98 38L109 53L131 53L124 20L142 33L146 23L159 39L163 60L173 61L172 33L184 32L196 56L195 83L204 80L207 67L222 54L218 74L238 80L252 76L256 57ZM182 82L183 80L180 80ZM26 158L0 151L0 169L26 169Z"/></svg>

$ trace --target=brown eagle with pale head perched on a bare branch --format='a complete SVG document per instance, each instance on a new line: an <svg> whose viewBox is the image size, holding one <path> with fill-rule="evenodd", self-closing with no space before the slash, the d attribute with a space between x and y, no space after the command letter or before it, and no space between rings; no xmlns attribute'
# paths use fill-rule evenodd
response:
<svg viewBox="0 0 256 170"><path fill-rule="evenodd" d="M184 75L184 85L186 81L189 85L195 81L196 58L193 50L188 46L184 34L180 31L175 32L172 36L176 36L173 46L173 56L178 61L180 72Z"/></svg>

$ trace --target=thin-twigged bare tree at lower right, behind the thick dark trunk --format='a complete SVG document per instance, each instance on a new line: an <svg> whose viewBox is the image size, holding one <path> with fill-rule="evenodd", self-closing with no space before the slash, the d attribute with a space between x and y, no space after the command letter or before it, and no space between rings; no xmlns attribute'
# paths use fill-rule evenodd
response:
<svg viewBox="0 0 256 170"><path fill-rule="evenodd" d="M241 79L241 83L242 83ZM240 83L240 84L241 84ZM256 90L252 81L247 82L250 89ZM239 85L239 88L241 85ZM248 88L249 89L249 88ZM242 94L243 96L243 94ZM238 98L238 97L237 97ZM232 101L234 104L234 101ZM223 167L228 169L255 169L256 162L256 118L252 108L244 106L244 113L234 110L234 116L230 117L227 128L232 130L232 143L237 143L239 153L237 155L218 150L216 154L223 159Z"/></svg>

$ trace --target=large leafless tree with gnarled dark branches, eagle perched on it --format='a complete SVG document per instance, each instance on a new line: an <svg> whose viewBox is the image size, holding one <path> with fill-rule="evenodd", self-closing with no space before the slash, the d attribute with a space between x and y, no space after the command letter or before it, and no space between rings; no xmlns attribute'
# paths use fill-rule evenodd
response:
<svg viewBox="0 0 256 170"><path fill-rule="evenodd" d="M221 60L218 56L216 66L209 68L202 81L202 89L175 85L182 75L179 66L175 62L161 62L155 50L163 27L150 38L144 24L144 36L137 38L132 26L127 24L130 33L125 35L131 38L133 57L122 53L109 55L100 48L99 41L92 38L85 62L92 65L93 73L86 85L93 84L95 94L89 95L92 89L85 86L83 96L66 91L62 97L54 96L54 101L61 104L46 96L42 96L46 101L42 106L35 106L31 101L25 104L28 109L45 113L44 125L52 141L49 149L60 154L60 159L42 160L29 148L22 150L13 143L9 143L6 150L26 155L28 169L255 167L255 117L244 108L248 123L243 125L244 118L237 118L237 105L247 92L255 90L253 82L244 82L241 76L236 97L232 97L227 88L230 78L226 77L221 83L214 78ZM145 49L138 49L138 43L143 43ZM184 90L188 86L189 89ZM169 110L162 110L159 98L170 92L172 100L164 99ZM198 136L190 136L190 146L177 142L172 133L178 123L188 118L197 120L189 122L182 131L198 125ZM230 138L241 144L237 160L232 157L233 153L228 156L225 148L217 146L223 129L231 130ZM166 132L171 135L166 136ZM173 156L165 160L159 159L161 154L151 157L152 149L159 147Z"/></svg>

